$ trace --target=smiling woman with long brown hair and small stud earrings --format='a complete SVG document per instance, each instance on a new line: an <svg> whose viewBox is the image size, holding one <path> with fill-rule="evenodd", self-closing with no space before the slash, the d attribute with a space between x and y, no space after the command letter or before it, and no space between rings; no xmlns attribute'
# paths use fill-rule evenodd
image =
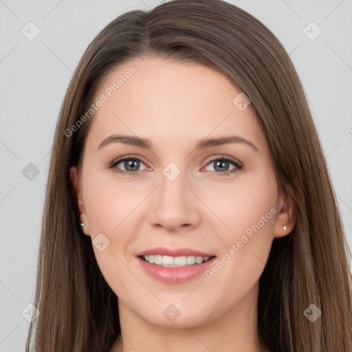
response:
<svg viewBox="0 0 352 352"><path fill-rule="evenodd" d="M278 39L219 0L109 23L67 89L27 351L352 351L349 249Z"/></svg>

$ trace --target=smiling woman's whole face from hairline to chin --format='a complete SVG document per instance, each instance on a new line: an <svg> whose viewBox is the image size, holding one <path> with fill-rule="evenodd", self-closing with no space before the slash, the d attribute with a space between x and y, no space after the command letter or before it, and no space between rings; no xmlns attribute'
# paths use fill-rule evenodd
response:
<svg viewBox="0 0 352 352"><path fill-rule="evenodd" d="M254 307L288 220L252 104L219 72L157 58L115 68L97 100L72 181L121 307L173 327Z"/></svg>

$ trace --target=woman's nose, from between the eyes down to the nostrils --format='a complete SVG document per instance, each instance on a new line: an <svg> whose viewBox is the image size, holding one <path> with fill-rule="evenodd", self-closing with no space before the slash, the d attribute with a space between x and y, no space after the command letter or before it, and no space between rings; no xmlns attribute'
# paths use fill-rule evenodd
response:
<svg viewBox="0 0 352 352"><path fill-rule="evenodd" d="M201 201L189 183L183 173L173 181L161 176L161 184L153 192L153 205L148 214L153 227L163 228L167 232L181 232L197 227Z"/></svg>

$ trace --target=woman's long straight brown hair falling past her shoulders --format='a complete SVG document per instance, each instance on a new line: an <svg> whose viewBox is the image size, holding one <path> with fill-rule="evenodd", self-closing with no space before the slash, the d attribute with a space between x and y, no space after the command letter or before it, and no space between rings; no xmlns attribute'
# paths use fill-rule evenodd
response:
<svg viewBox="0 0 352 352"><path fill-rule="evenodd" d="M260 21L220 0L174 0L122 14L80 60L56 126L26 351L107 352L120 333L118 298L79 226L69 177L94 115L65 133L102 79L131 58L192 61L224 74L252 100L278 182L294 197L296 226L274 239L259 283L258 334L271 352L351 352L350 255L325 157L303 87L283 45ZM314 304L322 315L311 322ZM35 331L35 333L34 333Z"/></svg>

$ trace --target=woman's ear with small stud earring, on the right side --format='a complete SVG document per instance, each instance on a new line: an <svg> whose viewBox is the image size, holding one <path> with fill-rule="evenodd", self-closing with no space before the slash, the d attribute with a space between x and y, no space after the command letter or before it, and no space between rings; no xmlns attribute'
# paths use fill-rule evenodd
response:
<svg viewBox="0 0 352 352"><path fill-rule="evenodd" d="M284 188L279 191L276 210L278 214L275 219L274 237L279 238L292 232L294 225L296 225L296 203L292 194ZM284 226L286 230L284 230Z"/></svg>

